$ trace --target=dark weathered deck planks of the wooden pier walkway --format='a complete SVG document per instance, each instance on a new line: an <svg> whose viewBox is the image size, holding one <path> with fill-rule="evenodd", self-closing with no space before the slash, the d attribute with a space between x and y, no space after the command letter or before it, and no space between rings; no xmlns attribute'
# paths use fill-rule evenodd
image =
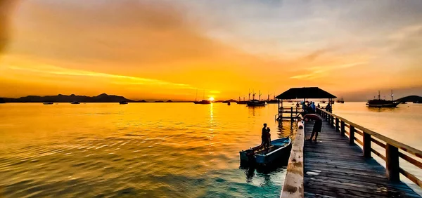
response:
<svg viewBox="0 0 422 198"><path fill-rule="evenodd" d="M305 197L421 197L409 186L392 183L385 168L366 159L357 145L323 121L318 143L310 142L312 121L305 124Z"/></svg>

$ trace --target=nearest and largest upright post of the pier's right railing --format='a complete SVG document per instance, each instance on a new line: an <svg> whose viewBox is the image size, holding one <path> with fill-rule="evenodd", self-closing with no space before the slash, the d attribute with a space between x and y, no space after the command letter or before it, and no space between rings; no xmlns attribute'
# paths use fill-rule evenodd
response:
<svg viewBox="0 0 422 198"><path fill-rule="evenodd" d="M399 149L387 143L385 157L388 180L398 182L400 180Z"/></svg>

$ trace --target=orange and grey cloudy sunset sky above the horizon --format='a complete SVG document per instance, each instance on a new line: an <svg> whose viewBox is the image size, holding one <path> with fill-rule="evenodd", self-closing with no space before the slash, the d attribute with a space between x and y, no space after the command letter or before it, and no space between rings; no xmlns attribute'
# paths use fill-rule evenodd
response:
<svg viewBox="0 0 422 198"><path fill-rule="evenodd" d="M422 95L422 1L2 0L0 97Z"/></svg>

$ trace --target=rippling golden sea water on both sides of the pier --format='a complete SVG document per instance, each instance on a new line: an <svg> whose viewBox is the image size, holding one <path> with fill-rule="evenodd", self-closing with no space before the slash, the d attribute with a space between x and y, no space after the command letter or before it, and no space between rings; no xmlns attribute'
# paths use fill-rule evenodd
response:
<svg viewBox="0 0 422 198"><path fill-rule="evenodd" d="M346 102L333 112L422 150L422 105ZM279 197L286 164L239 161L264 123L271 138L295 137L276 114L276 104L0 104L0 197Z"/></svg>

